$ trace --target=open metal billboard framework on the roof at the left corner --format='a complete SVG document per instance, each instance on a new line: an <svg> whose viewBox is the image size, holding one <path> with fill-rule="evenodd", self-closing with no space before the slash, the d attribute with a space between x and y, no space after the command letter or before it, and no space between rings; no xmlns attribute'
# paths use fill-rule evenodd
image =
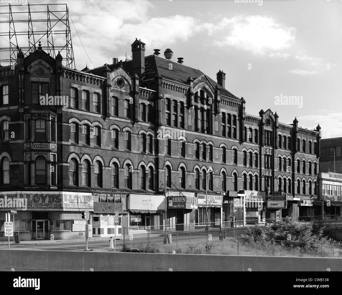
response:
<svg viewBox="0 0 342 295"><path fill-rule="evenodd" d="M50 10L49 6L52 6L53 10ZM8 12L3 12L6 7L8 7ZM67 4L2 6L0 27L0 44L5 41L9 43L8 47L0 46L1 63L17 64L19 49L25 56L28 56L37 50L38 42L41 41L43 44L46 42L42 49L51 57L55 58L60 52L63 57L63 66L75 68ZM61 38L61 35L65 37ZM24 44L27 46L23 46Z"/></svg>

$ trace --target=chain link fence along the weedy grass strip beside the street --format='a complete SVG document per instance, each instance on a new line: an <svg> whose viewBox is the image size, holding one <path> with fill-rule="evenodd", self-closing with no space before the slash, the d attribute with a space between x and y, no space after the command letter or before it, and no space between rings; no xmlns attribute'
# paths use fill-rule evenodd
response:
<svg viewBox="0 0 342 295"><path fill-rule="evenodd" d="M342 258L341 243L314 243L291 240L225 236L196 231L137 231L125 228L122 251L147 253L212 254L245 256L296 256Z"/></svg>

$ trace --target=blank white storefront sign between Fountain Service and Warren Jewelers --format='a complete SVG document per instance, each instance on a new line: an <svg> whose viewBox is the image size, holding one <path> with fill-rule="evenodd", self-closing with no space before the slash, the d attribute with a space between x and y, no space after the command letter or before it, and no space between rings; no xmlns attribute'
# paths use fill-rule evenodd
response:
<svg viewBox="0 0 342 295"><path fill-rule="evenodd" d="M162 195L134 195L128 198L129 210L165 211L165 197Z"/></svg>

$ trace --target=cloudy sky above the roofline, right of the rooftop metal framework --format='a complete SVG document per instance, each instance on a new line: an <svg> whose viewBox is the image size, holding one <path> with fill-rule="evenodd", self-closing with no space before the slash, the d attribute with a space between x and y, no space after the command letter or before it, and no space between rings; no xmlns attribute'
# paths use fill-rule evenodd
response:
<svg viewBox="0 0 342 295"><path fill-rule="evenodd" d="M320 124L322 138L341 137L342 1L239 2L29 1L68 4L79 70L86 62L98 67L113 57L124 60L141 39L145 55L171 48L175 60L183 57L184 65L214 80L223 70L226 89L245 98L247 113L270 108L280 122L297 117L305 128ZM297 105L279 105L287 96L298 96Z"/></svg>

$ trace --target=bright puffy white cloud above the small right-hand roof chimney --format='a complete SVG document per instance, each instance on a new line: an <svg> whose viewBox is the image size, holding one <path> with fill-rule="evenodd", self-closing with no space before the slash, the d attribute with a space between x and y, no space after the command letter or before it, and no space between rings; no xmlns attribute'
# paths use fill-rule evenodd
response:
<svg viewBox="0 0 342 295"><path fill-rule="evenodd" d="M295 39L295 28L287 27L268 16L234 16L223 18L217 25L219 30L228 30L219 46L233 46L254 54L289 48Z"/></svg>

